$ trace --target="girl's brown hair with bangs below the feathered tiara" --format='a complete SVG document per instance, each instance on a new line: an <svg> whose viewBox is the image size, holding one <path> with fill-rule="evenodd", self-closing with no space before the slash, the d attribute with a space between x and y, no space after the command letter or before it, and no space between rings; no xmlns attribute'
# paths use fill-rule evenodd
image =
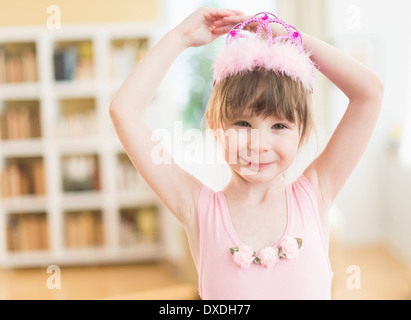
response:
<svg viewBox="0 0 411 320"><path fill-rule="evenodd" d="M312 127L311 93L289 76L257 69L215 84L206 110L207 123L213 130L240 117L246 109L263 117L275 116L297 123L300 145Z"/></svg>

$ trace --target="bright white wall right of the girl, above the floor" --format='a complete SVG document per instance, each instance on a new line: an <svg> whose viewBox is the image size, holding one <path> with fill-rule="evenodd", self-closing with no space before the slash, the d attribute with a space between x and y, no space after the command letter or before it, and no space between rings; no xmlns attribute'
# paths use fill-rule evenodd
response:
<svg viewBox="0 0 411 320"><path fill-rule="evenodd" d="M411 192L405 189L411 180L406 171L398 173L398 170L406 169L400 168L397 160L394 163L387 160L387 144L390 130L394 125L402 123L407 108L410 108L411 2L326 2L328 41L342 49L363 49L368 55L368 65L385 83L383 110L375 134L336 202L344 218L342 240L346 244L369 244L383 240L398 243L395 229L398 227L400 230L401 226L404 229L403 223L406 221L394 221L398 216L394 217L392 213L394 210L410 211L407 209L410 203L407 206L404 201L411 198ZM347 101L337 90L331 91L329 101L331 132L344 112ZM390 232L387 230L388 225ZM409 222L406 226L409 230ZM407 239L402 240L410 243L410 232L406 233Z"/></svg>

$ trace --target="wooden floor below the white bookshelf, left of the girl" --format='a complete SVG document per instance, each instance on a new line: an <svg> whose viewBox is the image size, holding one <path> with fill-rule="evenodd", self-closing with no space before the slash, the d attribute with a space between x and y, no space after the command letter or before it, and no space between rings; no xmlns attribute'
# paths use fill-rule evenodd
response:
<svg viewBox="0 0 411 320"><path fill-rule="evenodd" d="M153 292L173 299L170 289L178 292L177 299L191 299L196 293L166 263L61 267L60 283L56 274L46 269L0 269L0 299L156 299Z"/></svg>

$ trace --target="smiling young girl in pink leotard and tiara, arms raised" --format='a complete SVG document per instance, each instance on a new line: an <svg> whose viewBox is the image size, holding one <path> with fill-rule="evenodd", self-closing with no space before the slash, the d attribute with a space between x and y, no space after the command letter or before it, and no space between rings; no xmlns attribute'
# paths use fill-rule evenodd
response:
<svg viewBox="0 0 411 320"><path fill-rule="evenodd" d="M227 33L206 118L224 133L232 178L214 192L175 163L153 163L157 142L143 119L177 56ZM349 105L321 155L290 182L283 173L312 127L314 66ZM203 299L330 299L328 212L370 140L382 96L373 72L271 14L200 8L136 65L110 115L133 164L184 226Z"/></svg>

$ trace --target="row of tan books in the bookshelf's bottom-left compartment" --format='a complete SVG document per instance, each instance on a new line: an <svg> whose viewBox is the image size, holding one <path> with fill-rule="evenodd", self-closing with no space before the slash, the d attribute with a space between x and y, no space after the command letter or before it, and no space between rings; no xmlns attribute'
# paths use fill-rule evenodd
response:
<svg viewBox="0 0 411 320"><path fill-rule="evenodd" d="M9 214L6 233L8 251L34 251L49 248L45 213Z"/></svg>

